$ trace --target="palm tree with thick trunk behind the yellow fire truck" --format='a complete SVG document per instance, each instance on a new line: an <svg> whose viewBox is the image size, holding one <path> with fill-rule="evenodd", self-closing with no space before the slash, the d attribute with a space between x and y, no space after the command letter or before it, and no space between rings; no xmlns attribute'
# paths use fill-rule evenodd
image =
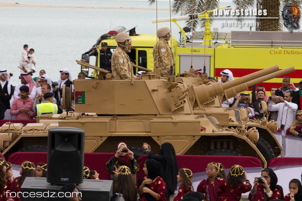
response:
<svg viewBox="0 0 302 201"><path fill-rule="evenodd" d="M202 13L204 9L212 10L218 8L220 0L193 0L194 13ZM206 1L206 2L205 2ZM149 5L152 5L156 0L148 0ZM261 17L279 17L279 19L257 19L259 26L256 27L257 31L281 31L283 19L281 11L285 4L292 3L299 9L302 6L302 0L235 0L235 9L250 9L254 8L255 4L257 9L266 9L267 15ZM192 0L174 0L172 2L172 10L175 14L191 14L192 13ZM243 21L243 16L238 16L239 21ZM212 19L211 19L212 20ZM191 27L191 21L186 22L187 27ZM197 26L203 27L204 20L194 20L194 30Z"/></svg>

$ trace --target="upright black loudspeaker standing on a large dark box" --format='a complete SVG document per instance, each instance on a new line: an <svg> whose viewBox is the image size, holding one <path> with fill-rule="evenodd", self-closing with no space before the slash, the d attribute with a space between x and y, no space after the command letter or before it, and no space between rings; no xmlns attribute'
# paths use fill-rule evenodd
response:
<svg viewBox="0 0 302 201"><path fill-rule="evenodd" d="M83 182L85 131L73 127L48 130L47 182L81 184Z"/></svg>

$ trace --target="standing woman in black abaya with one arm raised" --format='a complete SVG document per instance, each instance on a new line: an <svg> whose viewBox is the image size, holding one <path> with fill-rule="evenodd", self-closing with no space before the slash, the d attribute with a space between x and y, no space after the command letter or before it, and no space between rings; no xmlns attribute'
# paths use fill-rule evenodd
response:
<svg viewBox="0 0 302 201"><path fill-rule="evenodd" d="M171 143L163 143L159 151L159 155L151 152L151 147L147 143L143 144L143 149L149 155L149 159L154 159L162 164L164 171L164 181L166 183L166 199L170 199L170 195L174 194L177 186L178 165L174 147Z"/></svg>

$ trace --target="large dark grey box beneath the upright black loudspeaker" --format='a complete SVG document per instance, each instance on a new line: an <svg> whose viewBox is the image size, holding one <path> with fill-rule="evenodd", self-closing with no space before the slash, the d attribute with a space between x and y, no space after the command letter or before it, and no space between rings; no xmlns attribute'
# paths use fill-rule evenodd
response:
<svg viewBox="0 0 302 201"><path fill-rule="evenodd" d="M26 177L21 186L21 201L47 201L52 194L57 196L61 187L47 183L43 177ZM111 180L84 179L77 187L82 193L82 201L109 201L112 196Z"/></svg>

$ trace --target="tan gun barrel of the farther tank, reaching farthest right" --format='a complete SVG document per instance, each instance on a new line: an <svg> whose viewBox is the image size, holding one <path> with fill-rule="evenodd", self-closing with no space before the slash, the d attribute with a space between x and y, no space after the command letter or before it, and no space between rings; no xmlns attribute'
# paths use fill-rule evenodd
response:
<svg viewBox="0 0 302 201"><path fill-rule="evenodd" d="M279 77L279 76L282 76L282 75L285 75L285 74L288 74L288 73L291 73L291 72L294 72L294 71L295 71L294 66L291 66L291 67L288 67L288 68L284 68L281 71L277 71L277 72L274 72L274 73L271 73L271 74L267 74L265 76L256 78L254 80L248 81L248 82L240 84L238 86L231 87L231 88L224 91L225 96L223 97L222 101L225 101L226 99L229 99L229 98L232 98L232 97L236 96L237 93L248 90L249 87L251 87L255 84L262 83L266 80L270 80L272 78Z"/></svg>

